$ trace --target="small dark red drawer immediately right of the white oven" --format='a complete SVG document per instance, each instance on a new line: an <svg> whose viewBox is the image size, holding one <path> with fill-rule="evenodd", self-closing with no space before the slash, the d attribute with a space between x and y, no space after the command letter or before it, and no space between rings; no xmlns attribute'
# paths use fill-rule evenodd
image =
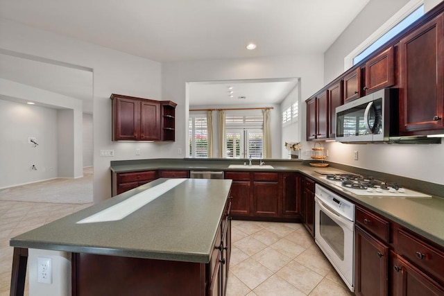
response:
<svg viewBox="0 0 444 296"><path fill-rule="evenodd" d="M356 223L368 232L388 243L390 238L390 223L384 218L367 211L361 207L356 207Z"/></svg>

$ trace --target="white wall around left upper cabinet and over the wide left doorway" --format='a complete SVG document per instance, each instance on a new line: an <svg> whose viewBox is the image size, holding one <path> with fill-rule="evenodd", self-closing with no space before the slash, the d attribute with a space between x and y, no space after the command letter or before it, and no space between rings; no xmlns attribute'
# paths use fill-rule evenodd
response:
<svg viewBox="0 0 444 296"><path fill-rule="evenodd" d="M171 147L183 146L178 142L120 143L111 141L110 94L162 99L159 62L38 30L7 19L0 19L0 35L1 49L93 69L94 202L111 196L110 160L171 157L173 150L176 150L175 155L177 155L177 148ZM184 107L179 105L178 109L183 110ZM135 155L135 148L141 148L141 155ZM99 157L101 149L114 150L114 157ZM82 159L80 159L81 162Z"/></svg>

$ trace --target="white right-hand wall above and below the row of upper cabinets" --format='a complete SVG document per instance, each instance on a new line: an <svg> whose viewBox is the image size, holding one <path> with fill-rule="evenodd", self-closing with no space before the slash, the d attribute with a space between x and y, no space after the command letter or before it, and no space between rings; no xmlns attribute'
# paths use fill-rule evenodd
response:
<svg viewBox="0 0 444 296"><path fill-rule="evenodd" d="M407 0L371 0L368 6L352 21L352 24L325 52L325 84L343 73L344 58L355 49L362 40L373 33L393 13L407 3ZM435 0L426 0L426 9L436 4ZM384 9L381 9L384 7ZM444 184L444 144L434 145L388 145L388 144L342 144L325 143L329 150L330 162L337 162L374 171L382 171ZM359 159L353 160L353 151L359 152Z"/></svg>

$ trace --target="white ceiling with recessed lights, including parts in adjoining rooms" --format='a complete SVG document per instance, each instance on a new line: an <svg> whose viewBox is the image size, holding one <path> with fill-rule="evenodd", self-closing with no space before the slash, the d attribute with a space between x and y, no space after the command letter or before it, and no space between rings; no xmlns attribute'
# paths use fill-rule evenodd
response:
<svg viewBox="0 0 444 296"><path fill-rule="evenodd" d="M368 1L0 0L0 17L150 60L175 62L324 53ZM257 48L248 51L249 42ZM0 77L91 98L92 79L80 85L85 73L50 71L54 65L18 59L0 56ZM29 71L28 62L35 70ZM190 105L279 103L296 85L294 79L232 81L228 83L236 87L229 98L226 82L192 85Z"/></svg>

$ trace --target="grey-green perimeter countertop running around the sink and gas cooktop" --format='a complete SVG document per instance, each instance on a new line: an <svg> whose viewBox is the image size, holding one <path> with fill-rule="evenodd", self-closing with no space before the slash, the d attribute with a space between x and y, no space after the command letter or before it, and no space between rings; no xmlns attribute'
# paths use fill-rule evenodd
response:
<svg viewBox="0 0 444 296"><path fill-rule="evenodd" d="M114 173L124 173L129 171L146 170L214 170L214 171L252 171L250 168L228 168L230 164L244 164L246 159L144 159L142 161L117 161L111 162L111 171ZM258 159L253 159L253 164L258 164ZM258 171L296 171L315 180L328 189L352 200L356 204L361 204L386 218L393 220L414 232L428 238L430 241L444 247L444 185L413 180L407 177L384 174L376 171L368 171L352 166L331 164L327 168L315 168L309 166L307 161L285 160L285 159L265 159L265 163L273 166L273 169L259 169ZM254 171L254 170L253 170ZM432 198L377 198L359 196L350 191L345 191L341 186L335 186L326 182L323 175L316 173L322 171L359 173L362 175L373 175L373 177L389 182L398 182L402 186L428 193Z"/></svg>

